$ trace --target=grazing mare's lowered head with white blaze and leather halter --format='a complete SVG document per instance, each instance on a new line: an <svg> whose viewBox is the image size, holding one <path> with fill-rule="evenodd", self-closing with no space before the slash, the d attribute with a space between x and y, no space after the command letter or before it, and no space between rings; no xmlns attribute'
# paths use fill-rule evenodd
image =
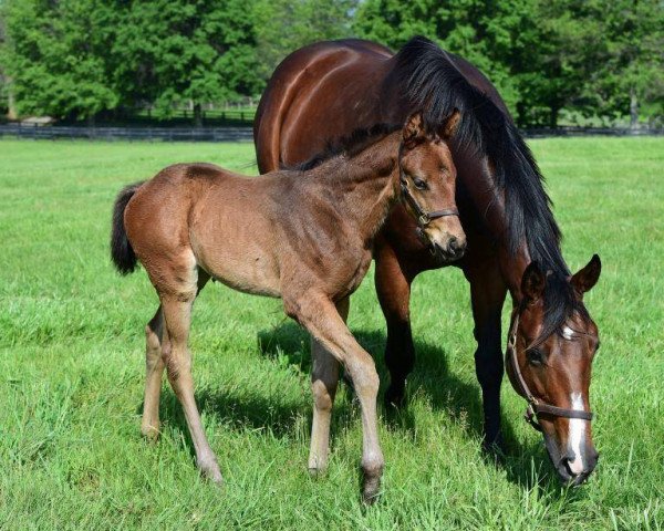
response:
<svg viewBox="0 0 664 531"><path fill-rule="evenodd" d="M583 305L596 283L600 258L566 278L530 263L521 280L507 347L507 373L528 400L527 419L542 431L560 479L580 485L598 464L589 387L598 327Z"/></svg>

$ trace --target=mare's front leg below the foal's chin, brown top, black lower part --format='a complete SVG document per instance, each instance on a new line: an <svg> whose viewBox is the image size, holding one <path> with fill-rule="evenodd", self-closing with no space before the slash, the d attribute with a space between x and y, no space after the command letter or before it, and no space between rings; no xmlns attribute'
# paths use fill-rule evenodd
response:
<svg viewBox="0 0 664 531"><path fill-rule="evenodd" d="M415 346L411 332L411 282L394 249L386 242L375 251L375 285L381 309L387 322L385 364L390 371L390 387L385 404L401 406L406 391L406 377L415 365Z"/></svg>

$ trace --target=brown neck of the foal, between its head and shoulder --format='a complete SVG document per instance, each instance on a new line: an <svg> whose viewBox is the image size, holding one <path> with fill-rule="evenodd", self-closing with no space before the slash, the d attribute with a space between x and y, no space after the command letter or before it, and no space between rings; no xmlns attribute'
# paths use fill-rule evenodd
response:
<svg viewBox="0 0 664 531"><path fill-rule="evenodd" d="M383 227L398 197L401 138L397 131L355 155L342 156L323 177L341 192L336 195L335 208L344 220L356 226L367 243Z"/></svg>

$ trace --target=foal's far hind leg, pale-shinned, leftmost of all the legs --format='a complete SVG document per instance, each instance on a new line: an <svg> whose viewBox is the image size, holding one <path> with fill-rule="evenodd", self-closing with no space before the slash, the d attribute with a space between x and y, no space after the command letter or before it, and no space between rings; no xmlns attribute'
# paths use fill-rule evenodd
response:
<svg viewBox="0 0 664 531"><path fill-rule="evenodd" d="M209 275L199 270L198 293L208 280ZM145 399L143 402L141 433L149 439L156 439L159 436L159 397L165 367L162 358L162 346L166 342L168 342L168 335L164 333L164 313L162 305L159 305L155 316L145 326Z"/></svg>

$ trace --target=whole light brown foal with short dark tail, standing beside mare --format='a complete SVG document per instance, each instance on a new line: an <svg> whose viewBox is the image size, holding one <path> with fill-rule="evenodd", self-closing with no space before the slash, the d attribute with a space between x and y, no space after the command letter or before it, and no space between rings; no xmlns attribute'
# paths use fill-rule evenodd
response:
<svg viewBox="0 0 664 531"><path fill-rule="evenodd" d="M456 215L456 169L447 147L458 113L439 135L427 135L419 114L401 128L383 128L310 169L247 178L208 164L169 166L117 197L112 256L126 274L143 263L159 296L146 327L142 431L159 431L162 375L183 405L198 468L212 481L221 472L194 398L187 347L191 306L210 278L236 290L281 298L284 312L312 336L313 426L309 468L328 462L330 418L339 364L362 408L363 498L378 492L374 362L349 331L349 295L364 278L373 240L401 197L418 218L433 252L458 257L465 233Z"/></svg>

